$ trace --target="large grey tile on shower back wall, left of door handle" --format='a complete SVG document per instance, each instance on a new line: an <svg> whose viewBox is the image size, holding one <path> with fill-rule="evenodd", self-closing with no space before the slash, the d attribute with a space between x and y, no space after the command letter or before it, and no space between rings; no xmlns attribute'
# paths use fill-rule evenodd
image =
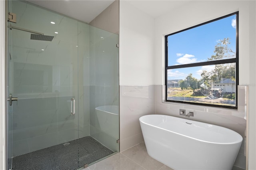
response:
<svg viewBox="0 0 256 170"><path fill-rule="evenodd" d="M13 105L13 140L57 132L56 101L56 98L19 99L19 103Z"/></svg>

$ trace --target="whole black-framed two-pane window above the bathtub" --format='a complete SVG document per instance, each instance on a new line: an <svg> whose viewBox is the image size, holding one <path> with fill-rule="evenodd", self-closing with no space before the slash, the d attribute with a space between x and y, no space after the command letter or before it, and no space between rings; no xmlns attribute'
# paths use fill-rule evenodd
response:
<svg viewBox="0 0 256 170"><path fill-rule="evenodd" d="M165 36L166 101L237 109L238 12Z"/></svg>

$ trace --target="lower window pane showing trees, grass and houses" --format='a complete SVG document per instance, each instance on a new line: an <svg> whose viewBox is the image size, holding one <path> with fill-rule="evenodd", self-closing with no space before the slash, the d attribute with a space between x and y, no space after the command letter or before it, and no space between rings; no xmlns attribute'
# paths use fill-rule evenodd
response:
<svg viewBox="0 0 256 170"><path fill-rule="evenodd" d="M236 106L236 65L170 69L167 100Z"/></svg>

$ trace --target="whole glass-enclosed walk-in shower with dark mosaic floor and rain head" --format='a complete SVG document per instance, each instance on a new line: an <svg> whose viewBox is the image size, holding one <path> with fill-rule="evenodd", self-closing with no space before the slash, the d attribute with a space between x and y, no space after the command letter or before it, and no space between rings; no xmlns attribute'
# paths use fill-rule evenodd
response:
<svg viewBox="0 0 256 170"><path fill-rule="evenodd" d="M26 1L7 8L8 170L77 170L119 152L119 118L96 114L119 105L118 35Z"/></svg>

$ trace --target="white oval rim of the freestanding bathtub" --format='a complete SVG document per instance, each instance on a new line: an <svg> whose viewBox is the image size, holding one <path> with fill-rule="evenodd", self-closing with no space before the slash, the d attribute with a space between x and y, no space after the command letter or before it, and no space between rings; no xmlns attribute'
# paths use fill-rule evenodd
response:
<svg viewBox="0 0 256 170"><path fill-rule="evenodd" d="M209 123L205 123L205 122L201 122L201 123L204 123L204 124L209 124L209 125L213 125L213 126L218 126L218 127L221 127L221 128L225 128L225 129L228 129L228 130L231 130L234 132L234 134L238 135L239 138L241 138L241 140L237 139L235 142L210 142L210 141L206 141L206 140L201 140L201 139L197 139L197 138L193 138L191 136L186 136L184 134L180 134L178 132L173 132L171 130L167 130L167 129L164 129L164 128L161 128L161 127L158 127L158 126L155 126L155 125L152 125L152 124L148 124L146 122L143 122L142 121L142 117L148 117L148 116L152 116L152 115L158 115L158 116L170 116L170 115L165 115L165 114L148 114L148 115L144 115L144 116L141 116L139 118L139 121L140 123L143 123L143 124L146 124L146 125L149 125L149 126L153 126L155 128L158 128L158 129L161 129L161 130L165 130L165 131L168 131L168 132L171 132L171 133L174 133L174 134L177 134L177 135L181 135L181 136L184 136L186 138L191 138L191 139L194 139L194 140L198 140L200 142L206 142L206 143L210 143L210 144L221 144L221 145L229 145L229 144L242 144L242 141L244 140L243 137L236 131L232 130L232 129L229 129L229 128L225 128L223 126L218 126L218 125L215 125L215 124L209 124ZM170 116L170 117L174 117L174 118L180 118L180 117L176 117L176 116ZM180 118L180 119L184 119L184 118ZM190 120L190 119L184 119L184 120L189 120L189 121L195 121L195 122L199 122L199 121L196 121L196 120Z"/></svg>

